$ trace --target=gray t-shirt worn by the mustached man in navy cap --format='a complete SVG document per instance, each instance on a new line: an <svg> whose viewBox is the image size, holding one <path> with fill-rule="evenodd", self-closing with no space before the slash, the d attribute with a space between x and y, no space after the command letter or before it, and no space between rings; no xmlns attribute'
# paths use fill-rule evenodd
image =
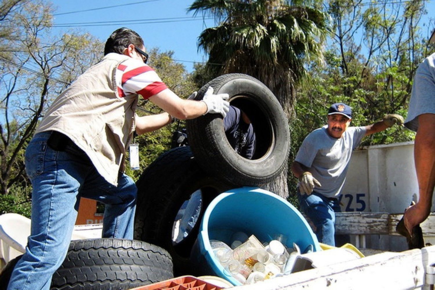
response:
<svg viewBox="0 0 435 290"><path fill-rule="evenodd" d="M327 126L309 133L302 142L295 161L305 165L321 183L314 191L325 197L338 197L345 183L352 150L365 136L365 127L348 127L336 139L328 135Z"/></svg>

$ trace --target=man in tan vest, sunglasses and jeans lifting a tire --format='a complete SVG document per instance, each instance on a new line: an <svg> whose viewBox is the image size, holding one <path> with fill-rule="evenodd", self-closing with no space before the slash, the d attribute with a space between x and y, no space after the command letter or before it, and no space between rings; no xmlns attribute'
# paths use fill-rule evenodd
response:
<svg viewBox="0 0 435 290"><path fill-rule="evenodd" d="M133 238L137 188L124 173L133 132L157 130L173 117L193 119L228 112L228 94L209 88L202 101L183 100L146 62L144 41L133 30L115 30L104 58L77 78L41 120L26 150L33 185L32 226L26 253L8 290L48 290L64 261L80 197L106 204L103 237ZM165 113L138 117L139 95Z"/></svg>

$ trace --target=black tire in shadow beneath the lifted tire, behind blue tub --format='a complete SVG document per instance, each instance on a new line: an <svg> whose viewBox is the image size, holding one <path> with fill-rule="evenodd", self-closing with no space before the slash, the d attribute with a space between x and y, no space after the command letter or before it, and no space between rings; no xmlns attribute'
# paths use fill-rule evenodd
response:
<svg viewBox="0 0 435 290"><path fill-rule="evenodd" d="M197 165L190 147L176 147L158 157L136 183L138 190L134 238L166 249L174 263L174 275L193 275L190 254L208 204L226 190L228 183L217 180ZM178 210L192 193L201 189L201 213L193 230L179 243L173 241Z"/></svg>

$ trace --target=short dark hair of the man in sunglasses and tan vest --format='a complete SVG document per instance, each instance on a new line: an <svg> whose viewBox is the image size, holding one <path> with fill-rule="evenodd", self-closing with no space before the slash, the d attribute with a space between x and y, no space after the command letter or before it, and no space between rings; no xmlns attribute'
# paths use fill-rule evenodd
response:
<svg viewBox="0 0 435 290"><path fill-rule="evenodd" d="M124 49L130 44L133 44L135 47L143 47L144 40L139 34L129 28L118 28L107 38L104 45L104 55L111 52L122 54Z"/></svg>

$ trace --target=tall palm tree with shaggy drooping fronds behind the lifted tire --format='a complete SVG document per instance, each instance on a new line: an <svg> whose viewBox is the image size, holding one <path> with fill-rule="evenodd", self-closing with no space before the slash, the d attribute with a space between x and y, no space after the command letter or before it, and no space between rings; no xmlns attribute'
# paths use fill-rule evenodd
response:
<svg viewBox="0 0 435 290"><path fill-rule="evenodd" d="M288 118L294 117L295 84L305 76L308 63L321 61L328 32L328 17L313 1L195 0L189 11L219 23L198 37L198 46L209 55L207 71L257 78L274 93ZM287 197L286 170L279 179L267 189Z"/></svg>

